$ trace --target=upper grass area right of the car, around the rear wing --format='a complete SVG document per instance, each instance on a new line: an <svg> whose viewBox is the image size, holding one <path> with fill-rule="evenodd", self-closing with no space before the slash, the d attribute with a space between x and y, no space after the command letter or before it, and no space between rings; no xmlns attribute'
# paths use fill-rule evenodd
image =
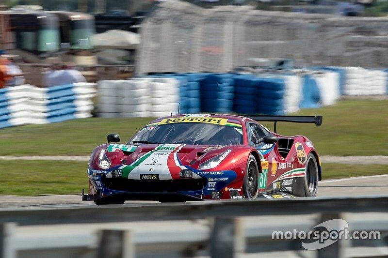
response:
<svg viewBox="0 0 388 258"><path fill-rule="evenodd" d="M321 127L282 122L277 126L279 134L308 137L321 155L388 155L388 100L344 100L294 115L323 115ZM273 130L271 123L263 124Z"/></svg>

